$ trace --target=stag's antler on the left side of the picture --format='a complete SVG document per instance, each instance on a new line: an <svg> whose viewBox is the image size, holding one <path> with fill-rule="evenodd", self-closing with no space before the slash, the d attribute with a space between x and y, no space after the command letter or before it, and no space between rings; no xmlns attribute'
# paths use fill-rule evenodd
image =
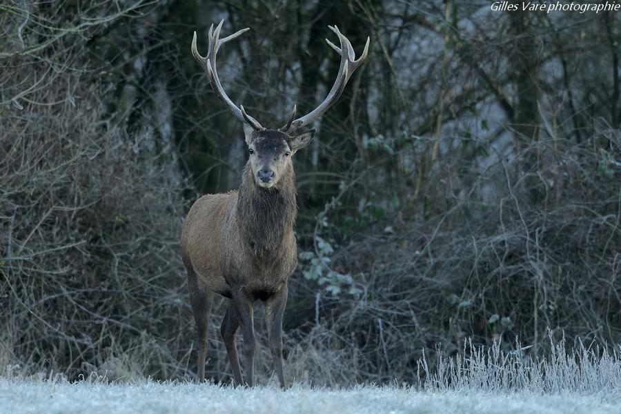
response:
<svg viewBox="0 0 621 414"><path fill-rule="evenodd" d="M228 109L233 112L233 115L235 115L235 117L239 119L239 121L250 124L250 126L252 126L255 130L264 130L265 128L263 128L261 124L259 124L259 121L257 121L253 117L250 117L250 115L246 113L243 106L241 109L237 108L235 103L233 103L228 95L226 95L226 92L224 92L224 88L222 88L222 85L220 84L220 79L218 78L218 71L216 68L216 55L220 46L224 45L224 43L228 41L235 39L240 34L250 30L250 28L245 28L239 30L239 32L235 32L230 36L225 37L224 39L219 39L220 30L223 23L224 19L220 21L215 30L213 29L213 24L210 26L208 35L209 48L206 57L202 57L196 48L196 32L194 32L194 38L192 39L192 55L194 55L195 59L199 61L199 63L203 67L203 70L205 70L207 76L209 77L209 83L211 84L211 88L213 88L213 91L215 92L217 97L219 97L220 100L224 102L224 104L228 107Z"/></svg>

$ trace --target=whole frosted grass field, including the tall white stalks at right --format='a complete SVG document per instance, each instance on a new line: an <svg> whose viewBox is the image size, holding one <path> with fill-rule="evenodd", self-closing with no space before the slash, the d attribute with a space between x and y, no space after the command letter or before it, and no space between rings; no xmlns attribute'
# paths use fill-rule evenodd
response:
<svg viewBox="0 0 621 414"><path fill-rule="evenodd" d="M526 348L470 345L433 367L421 359L420 380L411 386L298 383L281 391L97 375L71 383L8 371L0 377L0 413L621 413L619 346L566 351L561 341L551 355L535 358Z"/></svg>

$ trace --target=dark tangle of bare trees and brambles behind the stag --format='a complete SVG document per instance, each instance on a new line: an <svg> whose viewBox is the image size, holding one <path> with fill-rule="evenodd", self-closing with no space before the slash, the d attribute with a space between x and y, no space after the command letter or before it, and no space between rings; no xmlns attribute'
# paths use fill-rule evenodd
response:
<svg viewBox="0 0 621 414"><path fill-rule="evenodd" d="M252 29L219 53L224 88L272 127L331 88L328 24L358 54L371 37L295 155L289 379L411 381L468 337L620 343L621 15L490 5L1 3L0 373L194 377L179 228L247 156L190 54L220 19ZM223 301L207 370L229 382Z"/></svg>

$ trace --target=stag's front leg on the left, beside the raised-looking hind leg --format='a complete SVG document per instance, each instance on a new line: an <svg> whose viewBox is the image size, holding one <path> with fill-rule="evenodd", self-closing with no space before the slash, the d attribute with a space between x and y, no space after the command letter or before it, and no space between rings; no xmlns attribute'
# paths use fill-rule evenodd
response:
<svg viewBox="0 0 621 414"><path fill-rule="evenodd" d="M255 326L253 317L253 299L240 289L237 293L233 293L233 308L237 316L239 327L242 328L242 337L244 337L244 346L242 347L242 355L244 361L244 378L245 384L253 386L254 378L254 361L255 361Z"/></svg>

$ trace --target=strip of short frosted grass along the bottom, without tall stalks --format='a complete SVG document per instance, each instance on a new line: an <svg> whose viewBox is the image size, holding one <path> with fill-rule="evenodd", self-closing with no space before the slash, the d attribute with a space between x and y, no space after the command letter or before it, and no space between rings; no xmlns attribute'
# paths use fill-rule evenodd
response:
<svg viewBox="0 0 621 414"><path fill-rule="evenodd" d="M621 395L0 380L3 413L620 413Z"/></svg>

